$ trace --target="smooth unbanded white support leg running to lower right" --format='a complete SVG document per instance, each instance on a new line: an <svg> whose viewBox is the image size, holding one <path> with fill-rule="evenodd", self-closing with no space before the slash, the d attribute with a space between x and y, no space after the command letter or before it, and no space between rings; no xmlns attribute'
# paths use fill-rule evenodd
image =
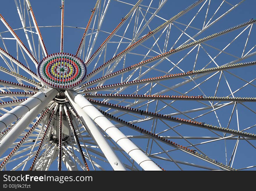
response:
<svg viewBox="0 0 256 191"><path fill-rule="evenodd" d="M102 150L102 152L106 156L107 160L109 161L113 169L126 170L121 160L119 160L119 158L115 155L114 151L109 146L108 142L106 141L102 133L99 131L98 127L95 125L93 120L79 107L79 105L77 105L73 101L73 99L68 94L66 94L66 96L69 99L69 103L72 105L72 107L76 110L77 114L79 115L79 118L81 119L82 123L85 125L86 131L88 131L88 133L93 136L95 142L97 142L99 148Z"/></svg>

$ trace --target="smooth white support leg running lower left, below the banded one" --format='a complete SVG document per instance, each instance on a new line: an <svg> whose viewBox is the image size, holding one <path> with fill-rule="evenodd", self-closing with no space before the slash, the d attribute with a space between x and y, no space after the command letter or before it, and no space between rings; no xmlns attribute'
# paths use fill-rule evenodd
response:
<svg viewBox="0 0 256 191"><path fill-rule="evenodd" d="M35 119L35 117L47 106L47 104L58 93L57 90L51 89L51 88L45 90L44 92L45 93L41 92L42 94L40 94L40 99L34 98L33 100L31 100L31 102L33 104L36 103L35 100L39 101L39 103L37 103L36 107L34 107L34 108L31 107L34 105L33 104L31 105L30 102L27 102L28 104L26 104L26 105L24 105L24 102L23 102L22 107L17 106L17 107L19 107L18 110L16 110L17 113L19 113L19 114L26 113L26 114L19 120L19 122L17 122L17 124L15 126L13 126L10 129L10 132L7 133L7 135L0 141L0 156L3 155L3 153L10 147L10 145L13 142L15 142L15 140L19 137L19 135L26 129L26 127L29 126L29 124ZM16 109L17 107L15 107L14 109ZM31 109L31 110L28 109L30 107L33 109ZM22 111L20 111L20 110L22 110ZM12 116L12 115L9 115L9 116ZM21 114L20 114L20 116L21 116Z"/></svg>

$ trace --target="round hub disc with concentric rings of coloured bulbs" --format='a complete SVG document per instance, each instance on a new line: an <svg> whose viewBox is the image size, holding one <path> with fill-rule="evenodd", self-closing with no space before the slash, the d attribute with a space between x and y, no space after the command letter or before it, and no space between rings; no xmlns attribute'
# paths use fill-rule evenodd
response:
<svg viewBox="0 0 256 191"><path fill-rule="evenodd" d="M37 73L45 85L66 90L83 82L86 78L86 66L73 54L54 53L40 61Z"/></svg>

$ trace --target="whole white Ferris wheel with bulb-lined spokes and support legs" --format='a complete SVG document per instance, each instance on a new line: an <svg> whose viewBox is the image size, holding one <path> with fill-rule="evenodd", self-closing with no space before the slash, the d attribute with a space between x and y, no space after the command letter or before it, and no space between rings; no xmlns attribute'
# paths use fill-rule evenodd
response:
<svg viewBox="0 0 256 191"><path fill-rule="evenodd" d="M0 170L254 170L251 0L4 2Z"/></svg>

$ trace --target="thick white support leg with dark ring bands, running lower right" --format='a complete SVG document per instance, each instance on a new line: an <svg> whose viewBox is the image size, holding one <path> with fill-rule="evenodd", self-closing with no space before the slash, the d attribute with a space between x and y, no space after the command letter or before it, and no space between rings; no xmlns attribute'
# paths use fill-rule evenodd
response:
<svg viewBox="0 0 256 191"><path fill-rule="evenodd" d="M144 170L161 170L148 156L127 138L115 125L95 108L85 97L77 92L67 90L66 95L79 105L124 151L133 158Z"/></svg>

